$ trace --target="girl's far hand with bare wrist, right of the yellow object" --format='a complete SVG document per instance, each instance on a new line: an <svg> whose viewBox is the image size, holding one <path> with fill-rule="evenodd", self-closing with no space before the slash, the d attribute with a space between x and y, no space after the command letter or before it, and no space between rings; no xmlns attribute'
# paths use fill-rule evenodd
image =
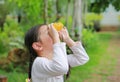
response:
<svg viewBox="0 0 120 82"><path fill-rule="evenodd" d="M70 38L69 33L66 28L59 31L59 37L63 40L69 47L75 45L75 42Z"/></svg>

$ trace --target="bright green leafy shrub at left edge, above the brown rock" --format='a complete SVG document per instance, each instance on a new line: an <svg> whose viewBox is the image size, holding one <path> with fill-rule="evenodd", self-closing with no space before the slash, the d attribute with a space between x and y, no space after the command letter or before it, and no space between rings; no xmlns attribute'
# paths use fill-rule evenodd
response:
<svg viewBox="0 0 120 82"><path fill-rule="evenodd" d="M23 43L23 32L21 31L21 27L15 22L13 19L7 17L6 23L4 24L4 31L0 32L0 53L4 53L13 48L13 42ZM14 46L21 48L21 44L18 45L14 43ZM15 47L16 47L15 46Z"/></svg>

